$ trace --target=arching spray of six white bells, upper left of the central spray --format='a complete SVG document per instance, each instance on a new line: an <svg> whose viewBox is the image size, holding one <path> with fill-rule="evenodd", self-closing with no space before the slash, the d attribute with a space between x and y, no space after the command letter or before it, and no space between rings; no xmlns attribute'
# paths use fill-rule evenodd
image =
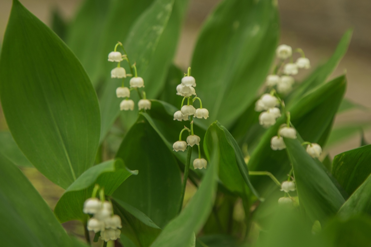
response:
<svg viewBox="0 0 371 247"><path fill-rule="evenodd" d="M138 109L139 110L142 110L142 109L149 110L149 109L151 109L151 101L149 101L146 98L146 94L145 94L144 91L142 91L142 95L143 95L143 97L142 97L142 95L141 95L141 93L139 92L139 89L138 89L138 88L144 88L144 80L143 80L143 78L138 76L137 67L136 67L135 63L134 63L134 65L131 65L130 60L129 60L126 52L125 52L125 55L122 55L121 52L116 51L117 47L119 45L122 47L122 49L125 52L125 49L122 46L122 43L118 42L115 46L114 51L110 52L108 54L108 61L118 63L117 67L115 67L114 69L111 70L111 78L122 79L121 87L118 87L116 89L117 98L126 98L126 99L121 101L120 110L121 111L129 111L129 110L133 111L134 110L134 101L132 99L129 99L130 98L130 92L131 92L131 90L134 90L134 89L137 90L139 98L141 98L138 101ZM126 60L128 62L132 74L127 74L125 69L120 66L120 63L121 63L122 60ZM124 86L124 80L127 76L133 76L133 69L134 69L134 77L132 77L130 79L130 82L129 82L130 89L129 89L129 88Z"/></svg>

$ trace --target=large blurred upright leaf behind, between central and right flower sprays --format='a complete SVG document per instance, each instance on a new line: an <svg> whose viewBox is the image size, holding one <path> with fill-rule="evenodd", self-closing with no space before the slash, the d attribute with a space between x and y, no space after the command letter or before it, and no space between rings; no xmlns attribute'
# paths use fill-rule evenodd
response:
<svg viewBox="0 0 371 247"><path fill-rule="evenodd" d="M207 123L229 126L256 96L279 37L275 1L224 0L206 20L192 59Z"/></svg>

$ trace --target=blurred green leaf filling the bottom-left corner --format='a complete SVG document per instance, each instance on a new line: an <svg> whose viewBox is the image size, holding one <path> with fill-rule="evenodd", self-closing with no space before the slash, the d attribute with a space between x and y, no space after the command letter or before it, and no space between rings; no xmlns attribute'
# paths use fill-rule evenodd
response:
<svg viewBox="0 0 371 247"><path fill-rule="evenodd" d="M71 246L49 206L19 168L0 154L1 246Z"/></svg>

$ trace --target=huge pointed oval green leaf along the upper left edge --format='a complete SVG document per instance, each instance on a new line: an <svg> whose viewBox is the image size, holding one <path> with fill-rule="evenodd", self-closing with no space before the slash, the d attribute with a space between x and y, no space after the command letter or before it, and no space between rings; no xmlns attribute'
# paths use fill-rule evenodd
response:
<svg viewBox="0 0 371 247"><path fill-rule="evenodd" d="M89 77L62 40L17 0L0 57L0 96L14 140L49 180L67 188L93 165L100 113Z"/></svg>

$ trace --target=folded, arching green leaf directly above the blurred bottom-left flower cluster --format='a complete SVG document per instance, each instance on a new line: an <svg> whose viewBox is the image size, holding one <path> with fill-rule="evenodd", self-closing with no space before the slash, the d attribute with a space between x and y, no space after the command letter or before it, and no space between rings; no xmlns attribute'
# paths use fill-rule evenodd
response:
<svg viewBox="0 0 371 247"><path fill-rule="evenodd" d="M87 219L82 212L86 199L90 198L95 184L104 188L105 195L112 195L119 185L138 171L127 169L121 159L105 161L86 170L63 193L54 209L54 214L61 223L70 220Z"/></svg>

